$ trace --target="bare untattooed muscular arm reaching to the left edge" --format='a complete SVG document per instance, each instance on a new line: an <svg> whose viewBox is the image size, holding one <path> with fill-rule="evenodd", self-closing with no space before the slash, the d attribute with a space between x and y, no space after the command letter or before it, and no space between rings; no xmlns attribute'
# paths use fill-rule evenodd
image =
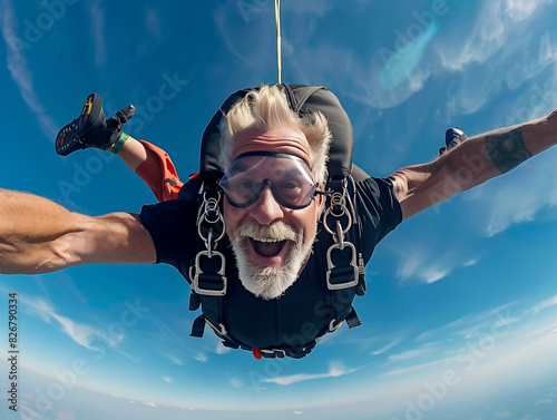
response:
<svg viewBox="0 0 557 420"><path fill-rule="evenodd" d="M0 273L155 261L155 246L137 215L90 217L39 196L0 189Z"/></svg>

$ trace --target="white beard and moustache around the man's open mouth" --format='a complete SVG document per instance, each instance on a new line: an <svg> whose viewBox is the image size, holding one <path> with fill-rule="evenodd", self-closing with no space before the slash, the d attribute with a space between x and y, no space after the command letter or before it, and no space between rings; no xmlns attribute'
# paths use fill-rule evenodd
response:
<svg viewBox="0 0 557 420"><path fill-rule="evenodd" d="M251 262L247 256L247 246L251 246L248 236L289 240L291 248L284 264L280 267L261 267ZM297 280L312 251L312 245L304 244L303 235L284 222L275 222L270 226L247 223L241 225L235 233L232 240L232 251L236 256L240 281L244 287L256 297L272 300L282 296L286 289Z"/></svg>

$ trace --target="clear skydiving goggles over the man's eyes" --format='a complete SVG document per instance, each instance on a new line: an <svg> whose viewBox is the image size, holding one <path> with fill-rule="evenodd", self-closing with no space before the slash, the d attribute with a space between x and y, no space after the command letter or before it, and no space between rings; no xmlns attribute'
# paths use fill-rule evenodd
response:
<svg viewBox="0 0 557 420"><path fill-rule="evenodd" d="M317 194L312 172L303 159L274 152L240 155L218 184L234 207L254 204L265 186L278 204L292 209L307 207Z"/></svg>

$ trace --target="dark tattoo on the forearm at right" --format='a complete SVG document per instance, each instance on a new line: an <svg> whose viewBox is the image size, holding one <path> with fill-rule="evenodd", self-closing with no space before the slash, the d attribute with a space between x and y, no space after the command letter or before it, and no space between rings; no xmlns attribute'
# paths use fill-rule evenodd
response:
<svg viewBox="0 0 557 420"><path fill-rule="evenodd" d="M521 128L488 135L486 146L491 162L502 174L531 157L524 143Z"/></svg>

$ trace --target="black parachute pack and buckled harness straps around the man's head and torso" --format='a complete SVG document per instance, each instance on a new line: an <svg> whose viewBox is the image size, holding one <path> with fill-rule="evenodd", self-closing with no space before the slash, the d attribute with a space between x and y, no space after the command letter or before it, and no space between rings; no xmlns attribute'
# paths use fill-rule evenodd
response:
<svg viewBox="0 0 557 420"><path fill-rule="evenodd" d="M248 343L237 340L227 325L226 313L231 304L227 292L231 284L226 277L228 262L226 253L223 253L223 246L228 245L223 243L226 235L222 213L224 194L218 186L218 180L224 174L217 164L216 156L219 153L218 127L224 115L223 110L229 109L244 97L248 91L244 89L227 99L204 134L201 160L201 172L204 176L201 186L197 184L196 192L192 191L192 195L187 193L190 189L183 188L183 197L193 201L197 197L198 206L196 219L198 245L196 245L195 256L192 255L188 263L188 280L192 284L189 310L197 311L201 306L202 314L194 321L190 335L203 336L205 324L208 324L225 346L252 351L256 358L299 359L309 354L321 336L335 331L343 321L346 321L349 328L361 324L352 303L355 295L365 293L365 271L361 253L361 219L355 208L356 185L350 170L353 147L350 120L334 95L322 87L301 85L282 85L282 87L294 111L304 113L303 107L321 110L328 117L335 139L330 149L328 164L330 176L325 192L322 193L328 197L321 221L326 235L320 236L320 242L326 252L323 256L316 255L316 262L323 268L320 268L320 279L315 281L324 282L322 293L326 312L312 322L319 322L322 326L315 332L314 338L307 338L307 342L301 345L297 343L289 345L285 342L270 348L253 349ZM234 304L242 305L242 302L237 300ZM299 302L303 304L303 295L300 296ZM257 334L257 331L253 334Z"/></svg>

